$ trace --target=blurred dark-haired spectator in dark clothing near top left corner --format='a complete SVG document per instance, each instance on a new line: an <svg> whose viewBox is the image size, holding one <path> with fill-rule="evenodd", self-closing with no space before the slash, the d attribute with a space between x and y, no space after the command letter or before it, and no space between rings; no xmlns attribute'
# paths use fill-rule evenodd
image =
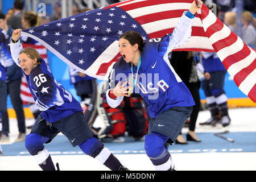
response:
<svg viewBox="0 0 256 182"><path fill-rule="evenodd" d="M22 15L23 15L24 1L15 0L13 4L14 15L9 19L11 28L22 28Z"/></svg>

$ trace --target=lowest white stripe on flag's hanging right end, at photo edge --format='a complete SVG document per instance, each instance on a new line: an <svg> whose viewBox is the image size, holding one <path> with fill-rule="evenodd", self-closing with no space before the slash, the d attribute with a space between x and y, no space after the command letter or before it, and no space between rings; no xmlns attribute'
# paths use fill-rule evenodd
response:
<svg viewBox="0 0 256 182"><path fill-rule="evenodd" d="M256 69L254 69L253 72L248 75L245 80L241 82L238 88L245 93L246 95L249 94L250 90L253 88L255 85L255 80L256 80Z"/></svg>

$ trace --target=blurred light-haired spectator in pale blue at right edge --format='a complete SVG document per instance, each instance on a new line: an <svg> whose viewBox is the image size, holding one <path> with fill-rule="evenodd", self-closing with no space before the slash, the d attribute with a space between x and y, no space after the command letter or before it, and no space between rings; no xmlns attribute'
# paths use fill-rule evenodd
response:
<svg viewBox="0 0 256 182"><path fill-rule="evenodd" d="M253 26L253 14L250 11L244 11L242 13L242 40L247 44L247 46L256 46L256 31Z"/></svg>

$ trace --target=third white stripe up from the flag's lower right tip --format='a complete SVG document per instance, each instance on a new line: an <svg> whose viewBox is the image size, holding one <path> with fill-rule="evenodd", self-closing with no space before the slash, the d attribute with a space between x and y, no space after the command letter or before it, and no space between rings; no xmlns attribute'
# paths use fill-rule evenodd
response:
<svg viewBox="0 0 256 182"><path fill-rule="evenodd" d="M220 49L220 51L216 52L221 61L223 61L226 57L241 51L241 49L243 48L243 41L239 36L237 38L238 39L235 43L231 44L228 47L224 47Z"/></svg>

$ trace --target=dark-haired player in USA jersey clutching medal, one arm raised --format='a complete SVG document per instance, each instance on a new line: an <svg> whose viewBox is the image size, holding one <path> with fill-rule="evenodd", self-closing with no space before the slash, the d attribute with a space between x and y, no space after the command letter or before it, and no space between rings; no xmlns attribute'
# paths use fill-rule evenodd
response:
<svg viewBox="0 0 256 182"><path fill-rule="evenodd" d="M144 149L156 170L174 170L167 146L175 141L195 105L191 93L171 67L168 53L189 40L193 18L202 4L200 0L193 1L172 34L163 38L144 43L141 35L134 31L125 32L119 38L122 58L110 73L106 101L111 107L117 107L123 96L130 96L134 89L146 100L151 118ZM125 79L120 81L121 77Z"/></svg>

